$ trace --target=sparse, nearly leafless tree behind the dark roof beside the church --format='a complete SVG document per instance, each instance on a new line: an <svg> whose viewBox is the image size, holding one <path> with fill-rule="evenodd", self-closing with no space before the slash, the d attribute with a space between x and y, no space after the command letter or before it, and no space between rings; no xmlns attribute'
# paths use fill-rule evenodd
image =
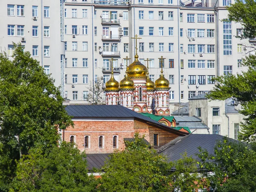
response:
<svg viewBox="0 0 256 192"><path fill-rule="evenodd" d="M90 82L89 94L86 98L86 101L91 105L102 105L105 104L105 99L103 98L103 80L97 78L97 81L93 83Z"/></svg>

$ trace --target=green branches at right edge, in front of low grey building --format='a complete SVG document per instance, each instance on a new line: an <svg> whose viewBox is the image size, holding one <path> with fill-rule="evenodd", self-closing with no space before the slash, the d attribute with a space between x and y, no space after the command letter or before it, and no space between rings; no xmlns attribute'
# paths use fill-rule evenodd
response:
<svg viewBox="0 0 256 192"><path fill-rule="evenodd" d="M247 117L242 124L239 139L253 142L256 141L256 56L250 55L243 59L243 65L248 70L241 74L216 78L218 84L207 97L213 100L233 97L237 104L241 104L239 112Z"/></svg>

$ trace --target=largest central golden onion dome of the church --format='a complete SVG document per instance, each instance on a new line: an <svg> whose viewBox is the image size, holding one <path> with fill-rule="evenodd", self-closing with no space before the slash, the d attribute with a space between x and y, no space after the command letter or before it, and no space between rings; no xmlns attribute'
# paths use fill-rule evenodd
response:
<svg viewBox="0 0 256 192"><path fill-rule="evenodd" d="M137 54L134 58L134 62L128 66L128 76L131 78L146 78L147 67L138 60L139 56Z"/></svg>

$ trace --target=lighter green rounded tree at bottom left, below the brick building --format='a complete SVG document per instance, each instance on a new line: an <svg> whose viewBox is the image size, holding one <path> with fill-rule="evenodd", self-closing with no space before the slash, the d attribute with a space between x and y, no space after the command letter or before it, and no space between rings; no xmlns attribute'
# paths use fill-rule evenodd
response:
<svg viewBox="0 0 256 192"><path fill-rule="evenodd" d="M22 192L90 192L95 180L87 175L85 153L72 143L54 146L49 155L33 149L17 165L12 191Z"/></svg>

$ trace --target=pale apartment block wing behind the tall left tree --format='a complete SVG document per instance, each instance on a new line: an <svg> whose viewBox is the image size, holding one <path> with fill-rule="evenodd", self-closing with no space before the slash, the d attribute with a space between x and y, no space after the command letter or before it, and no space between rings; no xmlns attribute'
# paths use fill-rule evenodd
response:
<svg viewBox="0 0 256 192"><path fill-rule="evenodd" d="M40 61L45 73L52 74L55 86L60 86L64 42L61 42L61 9L59 0L0 1L0 51L12 56L12 42L21 44L33 58ZM64 86L61 86L63 92Z"/></svg>

